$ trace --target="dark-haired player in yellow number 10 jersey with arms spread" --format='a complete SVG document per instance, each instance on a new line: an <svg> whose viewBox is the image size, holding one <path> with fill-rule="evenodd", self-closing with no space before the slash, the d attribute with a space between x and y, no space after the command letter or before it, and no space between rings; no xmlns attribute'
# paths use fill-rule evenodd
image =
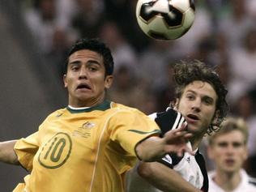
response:
<svg viewBox="0 0 256 192"><path fill-rule="evenodd" d="M27 138L0 143L0 161L29 171L14 192L122 192L137 158L155 161L189 151L185 126L160 138L150 117L105 100L113 58L104 43L78 41L65 69L68 106L46 117Z"/></svg>

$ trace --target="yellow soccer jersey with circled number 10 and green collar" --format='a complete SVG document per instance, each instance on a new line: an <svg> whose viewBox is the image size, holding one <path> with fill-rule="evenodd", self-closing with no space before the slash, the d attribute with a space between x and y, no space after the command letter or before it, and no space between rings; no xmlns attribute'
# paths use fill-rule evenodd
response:
<svg viewBox="0 0 256 192"><path fill-rule="evenodd" d="M159 132L139 110L107 100L88 109L60 109L15 144L20 164L31 173L14 191L122 192L136 161L134 147Z"/></svg>

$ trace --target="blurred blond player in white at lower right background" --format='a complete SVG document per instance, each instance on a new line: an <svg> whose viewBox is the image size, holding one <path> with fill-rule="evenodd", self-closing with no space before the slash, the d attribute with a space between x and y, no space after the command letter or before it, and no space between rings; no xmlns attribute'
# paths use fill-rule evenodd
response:
<svg viewBox="0 0 256 192"><path fill-rule="evenodd" d="M256 180L243 164L248 156L248 128L242 118L228 117L209 138L208 156L215 164L209 173L209 192L254 192Z"/></svg>

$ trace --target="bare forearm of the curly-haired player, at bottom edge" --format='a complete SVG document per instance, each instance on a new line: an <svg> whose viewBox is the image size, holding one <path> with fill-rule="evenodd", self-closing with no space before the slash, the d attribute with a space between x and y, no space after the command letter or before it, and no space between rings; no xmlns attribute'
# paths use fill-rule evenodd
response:
<svg viewBox="0 0 256 192"><path fill-rule="evenodd" d="M138 173L152 186L164 192L202 192L184 180L175 170L157 162L140 162Z"/></svg>

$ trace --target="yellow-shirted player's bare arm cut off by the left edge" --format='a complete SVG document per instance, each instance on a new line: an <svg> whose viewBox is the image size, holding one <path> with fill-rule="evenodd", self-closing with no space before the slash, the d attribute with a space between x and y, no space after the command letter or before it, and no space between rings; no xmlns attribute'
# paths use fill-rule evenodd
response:
<svg viewBox="0 0 256 192"><path fill-rule="evenodd" d="M17 140L0 143L0 161L7 164L19 164L14 147Z"/></svg>

